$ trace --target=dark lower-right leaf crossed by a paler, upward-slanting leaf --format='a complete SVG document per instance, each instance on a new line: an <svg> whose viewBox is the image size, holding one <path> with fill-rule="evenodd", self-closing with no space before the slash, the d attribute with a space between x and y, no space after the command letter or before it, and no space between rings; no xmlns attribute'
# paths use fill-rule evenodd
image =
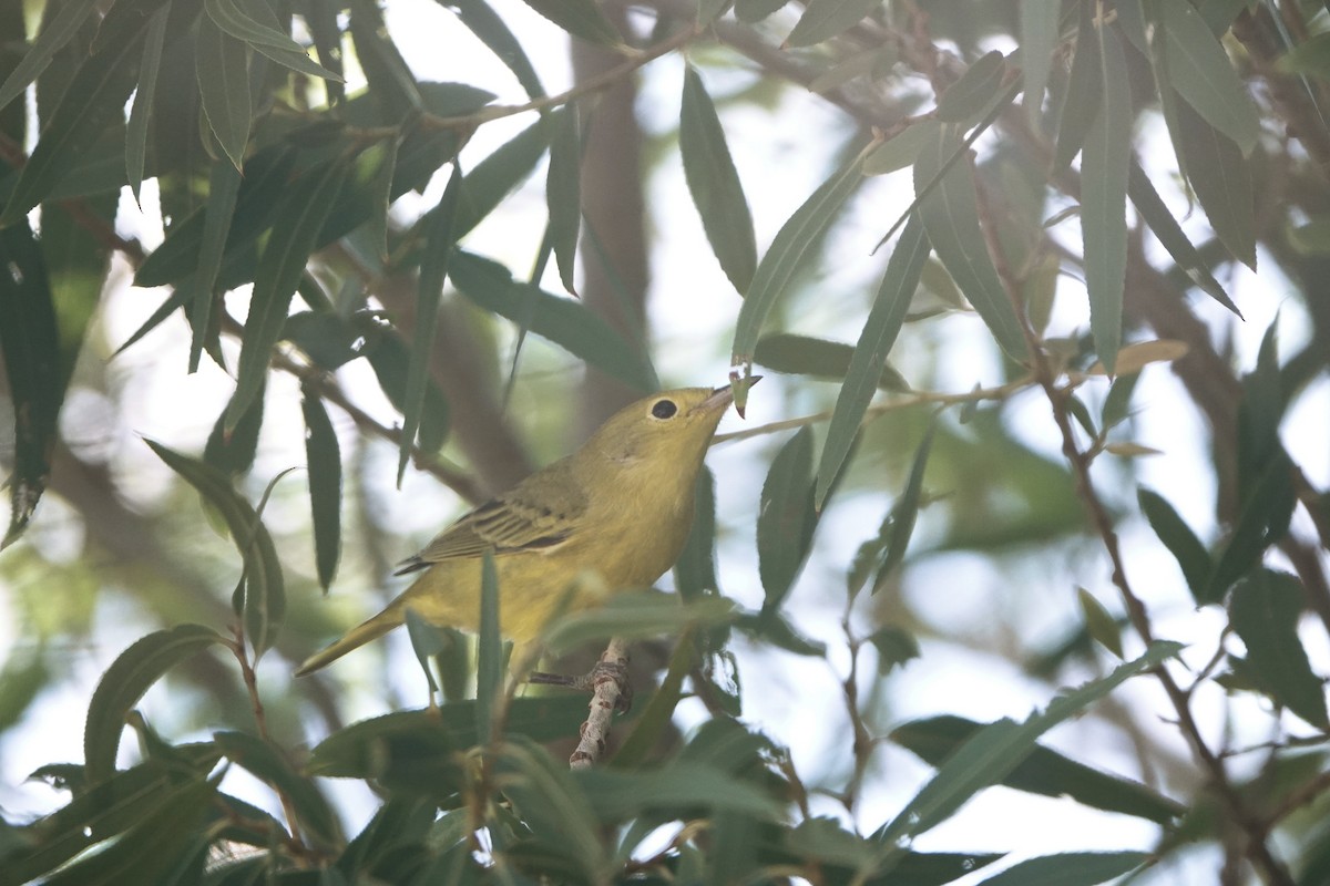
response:
<svg viewBox="0 0 1330 886"><path fill-rule="evenodd" d="M984 724L942 715L914 720L891 731L891 740L932 766L940 766ZM1044 797L1071 797L1091 809L1116 812L1168 825L1186 806L1152 788L1112 773L1100 772L1036 744L1029 757L1001 780L1013 790Z"/></svg>

